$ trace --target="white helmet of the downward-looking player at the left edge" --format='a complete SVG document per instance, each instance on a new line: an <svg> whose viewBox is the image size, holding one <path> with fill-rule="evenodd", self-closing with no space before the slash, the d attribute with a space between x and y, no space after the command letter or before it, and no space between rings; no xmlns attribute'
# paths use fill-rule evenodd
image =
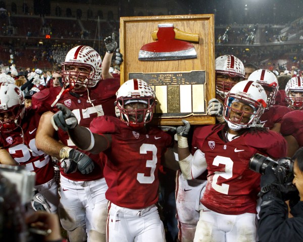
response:
<svg viewBox="0 0 303 242"><path fill-rule="evenodd" d="M4 113L9 112L14 118L5 121ZM0 85L0 131L10 132L18 128L24 116L24 94L13 83L3 82Z"/></svg>

